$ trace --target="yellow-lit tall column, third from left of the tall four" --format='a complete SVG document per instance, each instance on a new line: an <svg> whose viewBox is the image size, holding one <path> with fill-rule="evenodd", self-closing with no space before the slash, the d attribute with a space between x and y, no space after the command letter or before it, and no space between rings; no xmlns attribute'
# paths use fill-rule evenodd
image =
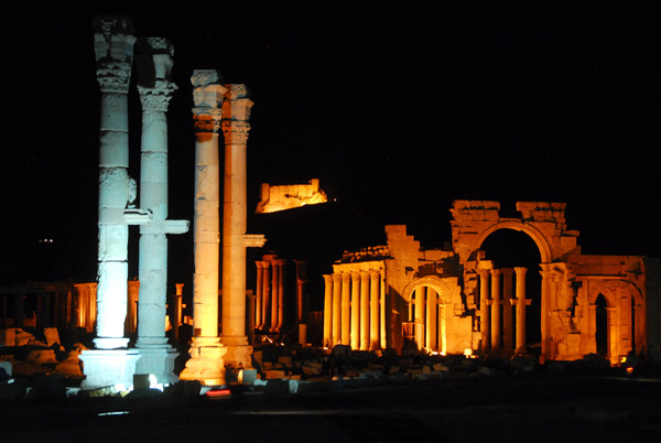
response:
<svg viewBox="0 0 661 443"><path fill-rule="evenodd" d="M218 72L196 69L193 84L195 123L195 202L193 275L193 341L182 380L224 385L227 352L218 337L218 269L220 235L220 161L218 132L223 96Z"/></svg>

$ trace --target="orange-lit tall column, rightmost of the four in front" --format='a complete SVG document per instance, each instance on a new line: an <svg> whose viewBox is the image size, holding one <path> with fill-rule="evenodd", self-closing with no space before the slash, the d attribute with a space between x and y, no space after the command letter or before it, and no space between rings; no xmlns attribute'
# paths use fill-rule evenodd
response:
<svg viewBox="0 0 661 443"><path fill-rule="evenodd" d="M250 109L246 85L227 85L223 104L225 181L223 203L223 334L225 361L252 368L252 346L246 335L246 248L262 247L261 235L247 235L247 145Z"/></svg>

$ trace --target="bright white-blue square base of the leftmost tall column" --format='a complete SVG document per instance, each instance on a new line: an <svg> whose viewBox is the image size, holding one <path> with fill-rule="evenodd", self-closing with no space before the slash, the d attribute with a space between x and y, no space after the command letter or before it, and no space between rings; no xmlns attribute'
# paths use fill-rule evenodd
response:
<svg viewBox="0 0 661 443"><path fill-rule="evenodd" d="M140 357L137 349L83 350L79 358L86 378L80 388L98 389L121 383L128 389L133 385L136 365Z"/></svg>

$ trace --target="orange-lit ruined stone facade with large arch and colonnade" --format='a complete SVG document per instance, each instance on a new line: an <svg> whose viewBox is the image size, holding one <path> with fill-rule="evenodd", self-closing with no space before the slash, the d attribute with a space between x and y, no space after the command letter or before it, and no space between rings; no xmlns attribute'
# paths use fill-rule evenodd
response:
<svg viewBox="0 0 661 443"><path fill-rule="evenodd" d="M578 233L566 229L564 204L519 202L519 218L502 218L499 209L498 202L455 201L447 250L425 250L397 225L386 226L386 246L345 252L324 275L324 346L534 354L528 315L540 324L542 361L599 353L617 364L630 352L659 360L658 263L583 255ZM499 269L489 260L480 247L499 229L530 236L539 268ZM540 273L539 290L525 287L530 272ZM535 303L540 318L530 317Z"/></svg>

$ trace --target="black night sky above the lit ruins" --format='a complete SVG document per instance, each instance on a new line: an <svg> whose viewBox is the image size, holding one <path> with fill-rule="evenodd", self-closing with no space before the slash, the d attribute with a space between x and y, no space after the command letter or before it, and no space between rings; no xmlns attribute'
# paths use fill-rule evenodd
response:
<svg viewBox="0 0 661 443"><path fill-rule="evenodd" d="M22 1L2 26L0 285L95 280L99 13L127 14L137 36L175 46L171 219L193 213L193 69L216 68L251 89L249 234L269 239L251 260L268 249L307 258L321 280L343 250L384 244L386 224L407 224L423 247L441 247L459 198L499 201L503 216L516 216L517 201L565 202L585 253L661 256L652 9L86 3ZM139 181L134 84L129 101ZM252 214L261 182L313 177L337 201ZM189 282L192 234L170 236L170 284ZM137 267L133 258L131 277Z"/></svg>

